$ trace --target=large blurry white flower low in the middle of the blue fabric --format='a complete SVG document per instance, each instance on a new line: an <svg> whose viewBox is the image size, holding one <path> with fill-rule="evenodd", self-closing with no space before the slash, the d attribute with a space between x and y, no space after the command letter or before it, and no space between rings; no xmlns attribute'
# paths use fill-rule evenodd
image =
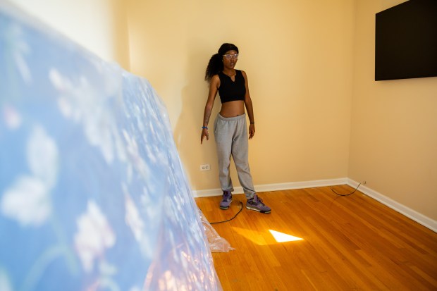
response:
<svg viewBox="0 0 437 291"><path fill-rule="evenodd" d="M88 202L87 212L78 220L78 233L74 236L75 250L87 273L94 268L94 259L101 258L105 249L113 247L116 242L111 225L101 213L95 202Z"/></svg>

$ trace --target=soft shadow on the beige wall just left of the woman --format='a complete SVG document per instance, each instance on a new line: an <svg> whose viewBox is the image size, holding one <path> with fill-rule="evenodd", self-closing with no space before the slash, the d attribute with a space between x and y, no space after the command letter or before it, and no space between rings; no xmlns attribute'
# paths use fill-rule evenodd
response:
<svg viewBox="0 0 437 291"><path fill-rule="evenodd" d="M190 46L185 66L186 85L181 91L182 109L173 135L192 190L215 189L220 188L214 141L214 120L221 106L218 95L209 119L209 140L204 139L203 144L200 144L204 108L209 92L204 75L209 58L215 50L211 50L199 39L190 41ZM211 171L199 171L199 166L206 163L211 165ZM214 179L213 187L211 179Z"/></svg>

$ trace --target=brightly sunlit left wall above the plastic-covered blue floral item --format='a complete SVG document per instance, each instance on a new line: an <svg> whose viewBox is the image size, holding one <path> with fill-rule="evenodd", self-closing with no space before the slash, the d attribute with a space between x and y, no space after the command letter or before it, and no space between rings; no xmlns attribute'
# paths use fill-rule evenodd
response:
<svg viewBox="0 0 437 291"><path fill-rule="evenodd" d="M93 54L129 69L128 22L123 0L10 2Z"/></svg>

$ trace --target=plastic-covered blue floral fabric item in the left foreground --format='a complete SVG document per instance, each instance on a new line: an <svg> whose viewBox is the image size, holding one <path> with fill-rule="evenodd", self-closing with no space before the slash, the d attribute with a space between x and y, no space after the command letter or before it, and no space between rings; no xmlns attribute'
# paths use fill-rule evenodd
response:
<svg viewBox="0 0 437 291"><path fill-rule="evenodd" d="M0 7L0 290L221 290L144 78Z"/></svg>

